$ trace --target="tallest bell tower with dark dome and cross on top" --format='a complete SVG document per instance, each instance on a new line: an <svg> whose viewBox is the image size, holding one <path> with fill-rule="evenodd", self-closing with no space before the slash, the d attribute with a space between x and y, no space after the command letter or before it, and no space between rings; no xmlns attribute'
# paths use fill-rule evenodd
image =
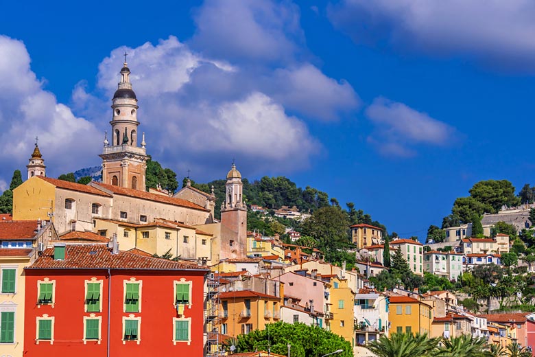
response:
<svg viewBox="0 0 535 357"><path fill-rule="evenodd" d="M121 68L121 82L112 99L111 142L104 137L102 158L102 182L109 185L145 191L147 152L145 133L138 146L137 98L130 83L130 69L126 63Z"/></svg>

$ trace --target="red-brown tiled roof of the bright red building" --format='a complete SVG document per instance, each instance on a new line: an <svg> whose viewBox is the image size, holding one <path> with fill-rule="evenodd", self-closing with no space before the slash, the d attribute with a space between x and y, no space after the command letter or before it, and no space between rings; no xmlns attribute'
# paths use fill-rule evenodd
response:
<svg viewBox="0 0 535 357"><path fill-rule="evenodd" d="M65 248L65 260L54 260L54 249L48 248L27 269L207 270L193 264L144 257L126 251L112 254L104 244L67 245Z"/></svg>

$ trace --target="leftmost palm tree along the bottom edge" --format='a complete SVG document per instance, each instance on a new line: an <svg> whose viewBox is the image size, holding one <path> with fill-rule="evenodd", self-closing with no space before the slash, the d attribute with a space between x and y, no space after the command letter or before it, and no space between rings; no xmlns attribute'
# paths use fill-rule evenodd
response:
<svg viewBox="0 0 535 357"><path fill-rule="evenodd" d="M440 338L428 338L427 334L401 333L382 336L365 347L377 357L430 357L437 352Z"/></svg>

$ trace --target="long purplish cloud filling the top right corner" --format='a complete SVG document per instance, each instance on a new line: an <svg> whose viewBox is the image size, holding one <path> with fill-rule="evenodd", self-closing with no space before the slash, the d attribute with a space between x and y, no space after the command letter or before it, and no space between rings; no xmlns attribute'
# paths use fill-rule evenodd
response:
<svg viewBox="0 0 535 357"><path fill-rule="evenodd" d="M533 1L341 0L328 16L357 43L535 70Z"/></svg>

